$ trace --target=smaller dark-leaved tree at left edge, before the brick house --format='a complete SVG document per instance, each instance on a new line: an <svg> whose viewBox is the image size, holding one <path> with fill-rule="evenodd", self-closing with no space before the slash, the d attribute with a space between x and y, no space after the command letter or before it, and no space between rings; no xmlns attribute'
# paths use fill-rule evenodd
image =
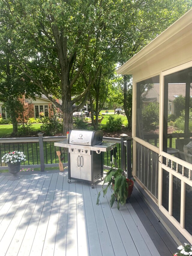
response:
<svg viewBox="0 0 192 256"><path fill-rule="evenodd" d="M41 95L40 88L26 77L18 68L11 64L12 56L6 49L1 48L0 52L0 101L4 103L7 113L9 113L13 134L17 133L17 118L23 110L23 105L19 98L35 98L35 93Z"/></svg>

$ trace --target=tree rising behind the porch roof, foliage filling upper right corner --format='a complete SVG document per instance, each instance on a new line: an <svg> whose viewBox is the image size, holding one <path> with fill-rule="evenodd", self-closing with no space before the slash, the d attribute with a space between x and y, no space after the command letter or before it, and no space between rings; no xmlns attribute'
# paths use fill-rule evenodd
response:
<svg viewBox="0 0 192 256"><path fill-rule="evenodd" d="M146 44L187 12L191 6L190 0L132 1L130 11L125 14L125 22L119 28L122 33L116 40L117 62L123 65L131 59ZM123 75L123 105L129 129L132 126L132 107L130 106L132 88L130 82L131 76Z"/></svg>

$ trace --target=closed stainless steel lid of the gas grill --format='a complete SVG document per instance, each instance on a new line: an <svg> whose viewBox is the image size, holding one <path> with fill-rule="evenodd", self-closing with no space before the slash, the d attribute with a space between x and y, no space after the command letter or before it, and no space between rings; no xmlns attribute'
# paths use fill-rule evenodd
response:
<svg viewBox="0 0 192 256"><path fill-rule="evenodd" d="M67 143L95 146L103 140L102 131L71 130Z"/></svg>

